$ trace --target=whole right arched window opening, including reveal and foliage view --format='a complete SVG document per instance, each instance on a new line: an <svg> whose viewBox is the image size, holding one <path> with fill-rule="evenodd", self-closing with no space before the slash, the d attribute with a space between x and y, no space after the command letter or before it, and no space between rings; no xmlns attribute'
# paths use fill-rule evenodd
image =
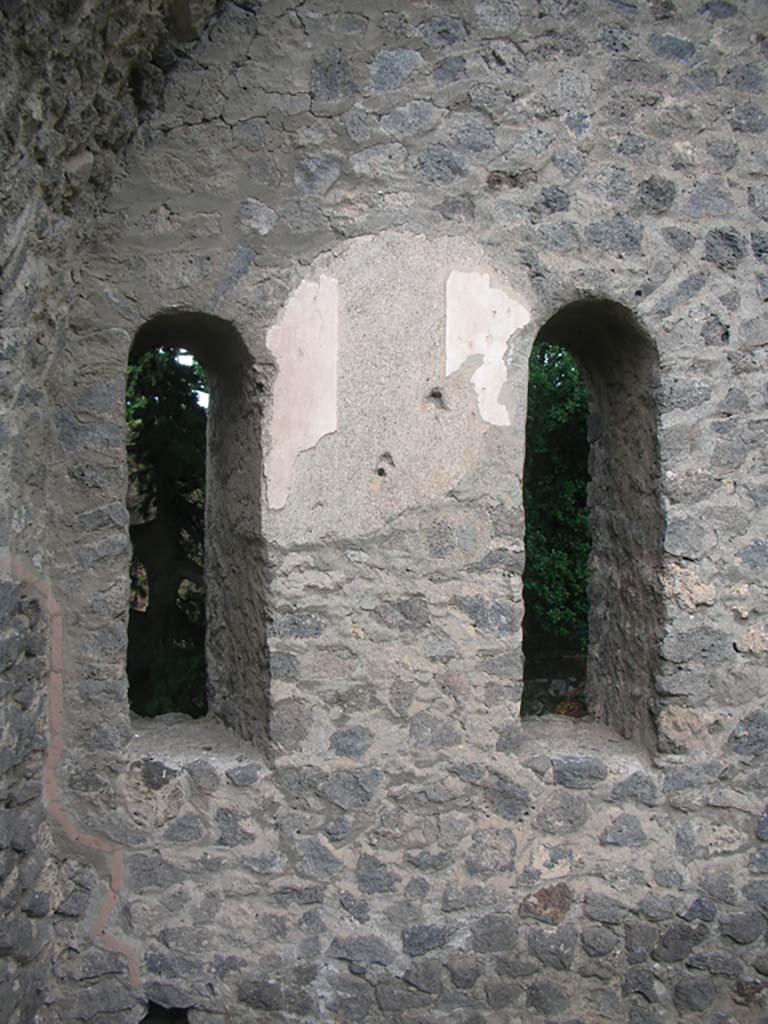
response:
<svg viewBox="0 0 768 1024"><path fill-rule="evenodd" d="M658 379L655 344L629 309L598 298L563 306L534 343L529 400L540 426L528 420L525 464L525 677L564 645L572 671L560 673L561 710L586 707L647 746L662 636ZM563 537L567 524L564 548L547 539L548 522ZM523 714L537 701L524 693Z"/></svg>

